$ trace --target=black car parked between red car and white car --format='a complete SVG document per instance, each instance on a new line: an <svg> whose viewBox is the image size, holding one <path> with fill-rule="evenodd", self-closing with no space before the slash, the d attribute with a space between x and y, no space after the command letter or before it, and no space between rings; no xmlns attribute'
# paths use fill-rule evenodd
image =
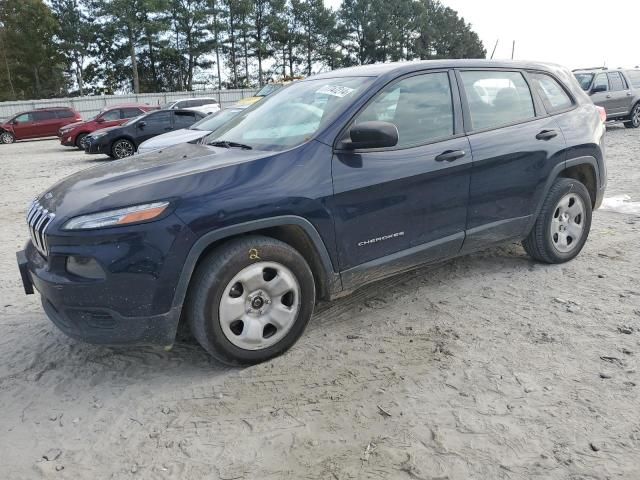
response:
<svg viewBox="0 0 640 480"><path fill-rule="evenodd" d="M162 133L190 127L204 118L193 110L158 110L135 117L118 127L103 128L84 139L85 152L101 153L111 158L129 157L138 146Z"/></svg>

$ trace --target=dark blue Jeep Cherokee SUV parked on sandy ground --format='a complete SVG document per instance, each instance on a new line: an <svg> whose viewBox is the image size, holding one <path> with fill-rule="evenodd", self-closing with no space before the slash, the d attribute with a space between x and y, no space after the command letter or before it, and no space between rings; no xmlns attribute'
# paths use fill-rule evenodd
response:
<svg viewBox="0 0 640 480"><path fill-rule="evenodd" d="M547 64L371 65L292 83L201 144L98 166L28 212L18 253L53 322L230 364L302 334L320 299L505 241L561 263L606 184L605 127Z"/></svg>

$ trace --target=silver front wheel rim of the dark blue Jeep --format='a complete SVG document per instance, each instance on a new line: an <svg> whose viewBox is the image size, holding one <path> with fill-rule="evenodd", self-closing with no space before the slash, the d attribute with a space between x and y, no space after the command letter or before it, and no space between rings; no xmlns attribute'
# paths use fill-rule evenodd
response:
<svg viewBox="0 0 640 480"><path fill-rule="evenodd" d="M276 262L243 268L224 289L218 318L224 335L236 347L262 350L278 343L295 324L300 285Z"/></svg>

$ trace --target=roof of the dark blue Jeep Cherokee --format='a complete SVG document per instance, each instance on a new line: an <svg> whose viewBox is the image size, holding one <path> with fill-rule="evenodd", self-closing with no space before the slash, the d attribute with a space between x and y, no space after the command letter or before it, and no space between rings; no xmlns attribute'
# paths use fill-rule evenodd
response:
<svg viewBox="0 0 640 480"><path fill-rule="evenodd" d="M531 70L556 70L564 68L560 65L547 62L520 61L520 60L485 60L485 59L458 59L458 60L420 60L412 62L374 63L358 67L340 68L330 72L319 73L309 79L334 78L334 77L380 77L387 74L404 74L412 71L439 69L439 68L518 68ZM304 82L305 80L301 80Z"/></svg>

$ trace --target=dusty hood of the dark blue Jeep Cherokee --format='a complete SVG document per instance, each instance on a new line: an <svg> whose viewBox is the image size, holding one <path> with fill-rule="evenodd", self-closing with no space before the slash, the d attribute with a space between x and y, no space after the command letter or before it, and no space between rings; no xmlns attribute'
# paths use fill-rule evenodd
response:
<svg viewBox="0 0 640 480"><path fill-rule="evenodd" d="M56 223L63 222L84 213L182 197L203 181L198 175L271 154L184 143L82 170L38 201L56 214Z"/></svg>

